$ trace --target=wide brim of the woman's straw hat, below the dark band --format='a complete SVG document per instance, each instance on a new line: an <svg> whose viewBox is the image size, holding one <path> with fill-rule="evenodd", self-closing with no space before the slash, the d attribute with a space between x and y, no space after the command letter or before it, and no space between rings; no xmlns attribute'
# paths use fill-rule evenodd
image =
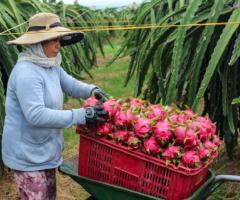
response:
<svg viewBox="0 0 240 200"><path fill-rule="evenodd" d="M8 41L7 44L36 44L54 38L60 38L61 46L67 46L81 41L84 38L84 33L65 27L55 27L49 30L26 32L17 39Z"/></svg>

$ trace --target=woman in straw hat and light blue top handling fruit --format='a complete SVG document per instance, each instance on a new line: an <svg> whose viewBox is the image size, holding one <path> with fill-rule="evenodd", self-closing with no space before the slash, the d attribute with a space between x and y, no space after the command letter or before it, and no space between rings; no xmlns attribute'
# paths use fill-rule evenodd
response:
<svg viewBox="0 0 240 200"><path fill-rule="evenodd" d="M63 109L63 92L76 98L106 95L95 85L77 81L61 67L61 46L83 33L60 24L52 13L29 20L28 32L9 44L27 45L19 54L7 88L2 156L12 169L21 199L55 199L55 169L62 162L62 128L103 121L101 106Z"/></svg>

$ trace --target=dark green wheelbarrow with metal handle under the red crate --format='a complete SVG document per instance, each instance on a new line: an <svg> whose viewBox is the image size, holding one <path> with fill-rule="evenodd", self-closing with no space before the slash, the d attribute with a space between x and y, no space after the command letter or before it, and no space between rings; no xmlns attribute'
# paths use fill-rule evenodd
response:
<svg viewBox="0 0 240 200"><path fill-rule="evenodd" d="M88 200L160 200L158 197L79 176L78 156L65 160L59 167L59 171L80 184L91 195ZM212 170L208 170L206 181L187 199L207 199L217 187L226 181L240 182L240 176L215 175Z"/></svg>

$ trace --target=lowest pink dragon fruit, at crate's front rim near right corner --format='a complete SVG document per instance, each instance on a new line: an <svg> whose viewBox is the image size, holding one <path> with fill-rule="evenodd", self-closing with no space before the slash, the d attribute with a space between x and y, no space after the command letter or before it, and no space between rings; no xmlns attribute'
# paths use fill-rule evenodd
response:
<svg viewBox="0 0 240 200"><path fill-rule="evenodd" d="M200 158L194 151L186 151L182 157L182 163L185 167L197 168L200 167Z"/></svg>

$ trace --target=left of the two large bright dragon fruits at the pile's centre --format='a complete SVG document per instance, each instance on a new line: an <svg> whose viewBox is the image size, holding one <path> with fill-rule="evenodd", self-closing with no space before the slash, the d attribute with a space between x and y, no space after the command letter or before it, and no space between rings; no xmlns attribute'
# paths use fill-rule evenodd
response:
<svg viewBox="0 0 240 200"><path fill-rule="evenodd" d="M139 118L134 125L136 135L140 138L145 138L151 131L151 125L148 119Z"/></svg>

